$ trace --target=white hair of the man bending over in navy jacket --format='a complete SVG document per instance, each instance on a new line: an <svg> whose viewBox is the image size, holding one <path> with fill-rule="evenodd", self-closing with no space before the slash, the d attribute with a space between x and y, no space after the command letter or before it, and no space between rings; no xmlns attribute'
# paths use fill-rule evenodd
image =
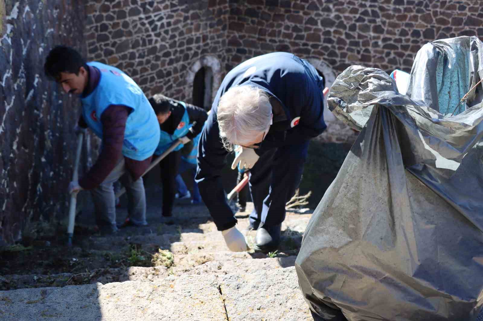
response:
<svg viewBox="0 0 483 321"><path fill-rule="evenodd" d="M272 108L266 92L254 86L235 86L218 103L218 127L223 146L247 145L270 126Z"/></svg>

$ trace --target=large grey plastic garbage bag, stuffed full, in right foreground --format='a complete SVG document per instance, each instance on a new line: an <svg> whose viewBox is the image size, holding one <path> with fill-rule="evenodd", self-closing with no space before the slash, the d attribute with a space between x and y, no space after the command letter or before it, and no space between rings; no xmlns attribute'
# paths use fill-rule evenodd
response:
<svg viewBox="0 0 483 321"><path fill-rule="evenodd" d="M471 55L467 85L480 80L480 40L438 43L441 56L451 46L455 59ZM412 98L418 81L436 81L414 79L421 65L431 62L415 61L407 95L376 68L349 67L332 85L329 108L362 131L295 264L306 302L325 320L470 321L482 307L483 104L450 117L434 105L441 93Z"/></svg>

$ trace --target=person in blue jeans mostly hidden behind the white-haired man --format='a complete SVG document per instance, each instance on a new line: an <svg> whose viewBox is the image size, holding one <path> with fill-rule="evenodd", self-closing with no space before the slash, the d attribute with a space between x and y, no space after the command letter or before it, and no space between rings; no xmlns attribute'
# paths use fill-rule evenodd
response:
<svg viewBox="0 0 483 321"><path fill-rule="evenodd" d="M190 171L191 176L193 177L193 199L191 200L191 204L193 205L200 205L203 203L201 200L201 195L199 194L198 183L195 181L196 176L196 155L198 154L198 143L199 138L201 137L201 133L199 133L195 138L193 138L193 145L187 146L191 148L189 154L181 155L181 163L178 174L176 175L176 193L175 198L178 200L189 199L191 198L191 193L186 187L185 181L181 174L185 173L186 171ZM186 148L186 147L185 147ZM184 148L184 149L185 149ZM189 150L188 148L188 150Z"/></svg>

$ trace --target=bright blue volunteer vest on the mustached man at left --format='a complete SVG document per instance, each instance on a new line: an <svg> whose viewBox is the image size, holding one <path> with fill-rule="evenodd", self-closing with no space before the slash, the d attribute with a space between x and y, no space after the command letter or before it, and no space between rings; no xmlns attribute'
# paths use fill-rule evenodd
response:
<svg viewBox="0 0 483 321"><path fill-rule="evenodd" d="M111 105L132 108L126 121L122 153L143 161L153 155L159 141L159 124L151 104L141 88L120 69L98 62L88 66L100 70L99 84L87 97L81 98L82 115L94 134L102 138L100 116Z"/></svg>

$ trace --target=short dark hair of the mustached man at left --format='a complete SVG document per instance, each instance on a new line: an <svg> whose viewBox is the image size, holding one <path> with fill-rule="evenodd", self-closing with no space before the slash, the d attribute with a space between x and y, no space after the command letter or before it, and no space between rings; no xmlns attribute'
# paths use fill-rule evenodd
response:
<svg viewBox="0 0 483 321"><path fill-rule="evenodd" d="M87 69L81 54L71 47L57 46L47 55L43 71L47 77L58 80L61 72L78 75L80 67Z"/></svg>

